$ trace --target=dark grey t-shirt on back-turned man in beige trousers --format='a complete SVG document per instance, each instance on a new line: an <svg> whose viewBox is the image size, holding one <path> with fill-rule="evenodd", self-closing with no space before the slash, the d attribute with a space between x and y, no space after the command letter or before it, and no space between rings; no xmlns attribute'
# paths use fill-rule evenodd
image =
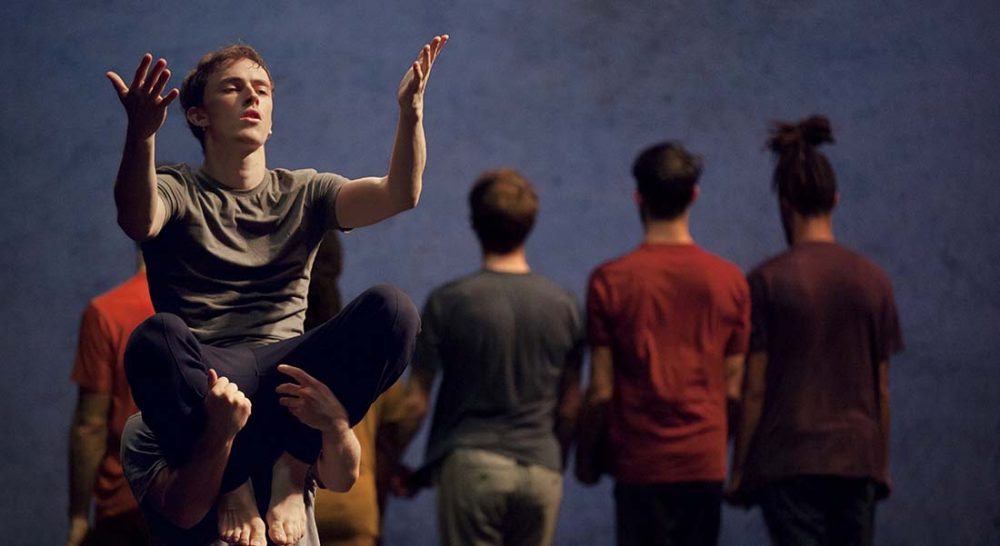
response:
<svg viewBox="0 0 1000 546"><path fill-rule="evenodd" d="M541 275L484 270L434 290L413 364L442 372L427 463L467 447L561 471L559 380L582 343L576 298Z"/></svg>

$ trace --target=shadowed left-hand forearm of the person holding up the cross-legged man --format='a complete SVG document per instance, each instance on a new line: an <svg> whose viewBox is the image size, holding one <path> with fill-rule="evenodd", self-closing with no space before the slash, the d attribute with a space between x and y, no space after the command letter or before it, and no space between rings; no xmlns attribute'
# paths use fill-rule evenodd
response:
<svg viewBox="0 0 1000 546"><path fill-rule="evenodd" d="M187 465L166 468L157 476L154 506L178 527L196 525L215 506L232 448L233 437L203 435Z"/></svg>

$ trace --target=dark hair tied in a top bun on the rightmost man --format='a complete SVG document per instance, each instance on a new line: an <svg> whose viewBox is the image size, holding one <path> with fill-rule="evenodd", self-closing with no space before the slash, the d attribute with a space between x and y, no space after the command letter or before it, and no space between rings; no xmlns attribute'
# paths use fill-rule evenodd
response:
<svg viewBox="0 0 1000 546"><path fill-rule="evenodd" d="M824 116L777 122L767 141L778 156L772 188L804 216L830 212L836 203L837 177L830 161L816 149L827 142L833 142L833 130Z"/></svg>

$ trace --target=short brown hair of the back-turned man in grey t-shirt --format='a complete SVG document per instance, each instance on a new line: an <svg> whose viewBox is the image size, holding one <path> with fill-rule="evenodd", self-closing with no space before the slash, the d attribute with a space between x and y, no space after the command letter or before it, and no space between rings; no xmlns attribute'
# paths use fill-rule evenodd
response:
<svg viewBox="0 0 1000 546"><path fill-rule="evenodd" d="M485 252L508 253L531 233L538 195L521 173L497 169L479 175L469 192L472 229Z"/></svg>

